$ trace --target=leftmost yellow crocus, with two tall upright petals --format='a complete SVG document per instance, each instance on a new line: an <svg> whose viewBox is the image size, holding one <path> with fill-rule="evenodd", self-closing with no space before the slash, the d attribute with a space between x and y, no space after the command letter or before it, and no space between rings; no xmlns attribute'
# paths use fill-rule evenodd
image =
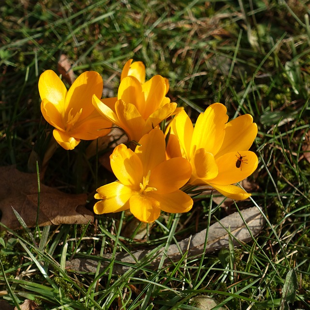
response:
<svg viewBox="0 0 310 310"><path fill-rule="evenodd" d="M41 111L55 129L55 140L66 150L73 150L80 140L94 140L110 132L111 122L94 109L93 94L101 96L103 81L94 71L82 73L67 91L52 70L39 78Z"/></svg>

